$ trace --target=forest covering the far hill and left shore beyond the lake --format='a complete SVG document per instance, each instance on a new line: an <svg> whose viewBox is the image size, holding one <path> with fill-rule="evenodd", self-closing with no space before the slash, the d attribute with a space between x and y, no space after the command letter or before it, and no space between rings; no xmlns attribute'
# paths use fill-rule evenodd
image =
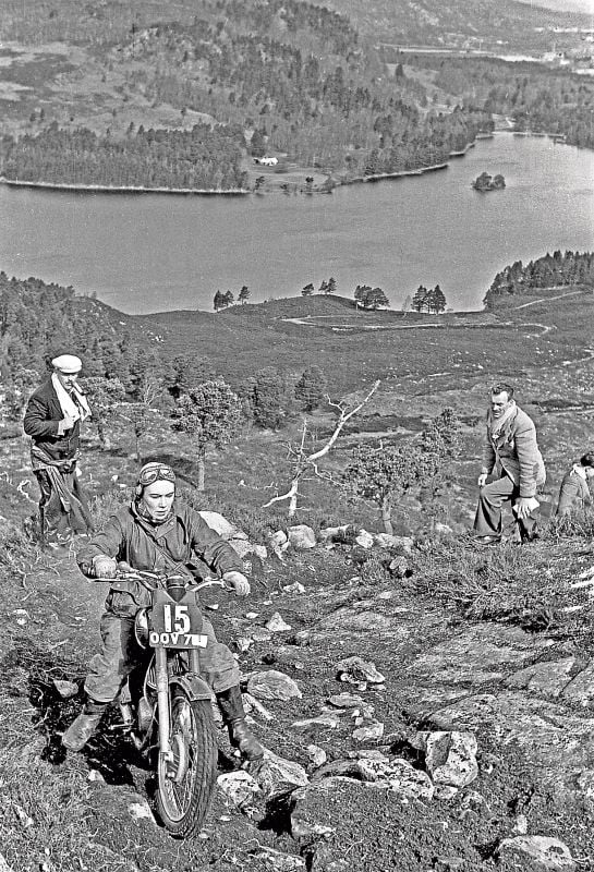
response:
<svg viewBox="0 0 594 872"><path fill-rule="evenodd" d="M192 23L134 25L100 45L95 34L93 46L106 83L116 72L124 76L124 102L173 107L180 122L199 112L204 123L191 134L133 129L118 138L109 128L94 136L75 122L74 130L57 129L53 120L5 137L0 173L54 184L229 190L245 185L242 152L271 150L349 181L443 164L493 129L482 108L439 112L417 81L390 78L375 49L336 12L295 0L203 0L194 9Z"/></svg>

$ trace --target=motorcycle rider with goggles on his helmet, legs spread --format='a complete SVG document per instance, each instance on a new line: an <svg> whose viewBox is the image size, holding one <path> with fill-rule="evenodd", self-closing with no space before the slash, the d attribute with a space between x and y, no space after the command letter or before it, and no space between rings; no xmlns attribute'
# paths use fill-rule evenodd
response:
<svg viewBox="0 0 594 872"><path fill-rule="evenodd" d="M144 585L117 579L119 561L132 569L153 572L187 572L196 554L222 576L238 596L250 593L250 582L233 548L203 520L198 512L175 498L175 473L165 463L146 463L138 473L135 497L112 514L104 530L78 552L81 571L96 581L111 580L100 621L101 652L89 663L83 711L62 736L62 743L80 751L138 663L134 618L150 602ZM210 621L204 619L208 645L201 654L203 677L213 688L231 744L246 760L263 756L264 749L245 723L240 674L229 647L217 641Z"/></svg>

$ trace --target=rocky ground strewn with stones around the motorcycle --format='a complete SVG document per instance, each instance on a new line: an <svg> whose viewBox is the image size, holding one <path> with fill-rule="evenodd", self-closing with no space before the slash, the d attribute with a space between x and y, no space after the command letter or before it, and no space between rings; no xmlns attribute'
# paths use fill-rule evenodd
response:
<svg viewBox="0 0 594 872"><path fill-rule="evenodd" d="M221 731L216 800L186 843L155 821L117 712L85 753L60 748L105 585L72 553L4 582L0 868L594 869L589 542L509 543L497 560L463 540L440 555L369 544L279 546L253 559L248 601L204 594L267 758L238 768ZM507 566L509 590L520 568L525 608L472 619L464 554Z"/></svg>

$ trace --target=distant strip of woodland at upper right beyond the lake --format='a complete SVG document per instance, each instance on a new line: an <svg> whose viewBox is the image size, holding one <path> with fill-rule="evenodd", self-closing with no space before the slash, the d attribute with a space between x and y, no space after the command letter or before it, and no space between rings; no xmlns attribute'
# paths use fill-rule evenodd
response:
<svg viewBox="0 0 594 872"><path fill-rule="evenodd" d="M586 76L495 58L407 55L405 62L435 70L438 87L465 105L508 116L517 131L557 134L594 148L594 82Z"/></svg>

